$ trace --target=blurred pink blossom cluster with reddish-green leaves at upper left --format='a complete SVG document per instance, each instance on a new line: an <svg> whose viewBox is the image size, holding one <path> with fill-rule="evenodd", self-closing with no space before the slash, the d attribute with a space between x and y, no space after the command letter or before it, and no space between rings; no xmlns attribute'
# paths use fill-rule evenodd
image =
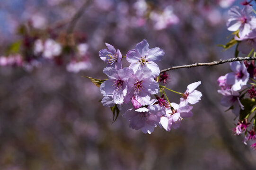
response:
<svg viewBox="0 0 256 170"><path fill-rule="evenodd" d="M91 68L88 44L85 40L76 40L81 39L80 34L62 35L49 30L42 33L33 24L19 29L21 40L9 46L7 55L0 56L0 66L22 67L31 71L50 62L75 73ZM63 40L68 36L72 37L72 43Z"/></svg>

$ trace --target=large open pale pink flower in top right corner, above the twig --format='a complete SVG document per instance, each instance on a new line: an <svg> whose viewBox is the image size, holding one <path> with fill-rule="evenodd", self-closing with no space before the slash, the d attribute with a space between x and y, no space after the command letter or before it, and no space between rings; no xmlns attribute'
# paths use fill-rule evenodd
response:
<svg viewBox="0 0 256 170"><path fill-rule="evenodd" d="M252 14L253 8L248 5L244 6L243 9L240 9L238 6L230 8L230 19L228 19L227 22L228 30L239 30L239 37L245 37L251 32L251 30L256 28L256 17L252 16Z"/></svg>

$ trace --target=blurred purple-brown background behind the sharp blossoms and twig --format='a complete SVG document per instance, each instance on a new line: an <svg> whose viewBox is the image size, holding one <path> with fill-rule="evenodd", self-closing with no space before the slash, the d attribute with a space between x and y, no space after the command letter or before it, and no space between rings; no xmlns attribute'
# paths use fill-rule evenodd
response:
<svg viewBox="0 0 256 170"><path fill-rule="evenodd" d="M160 69L233 58L217 44L230 40L227 12L242 1L0 0L0 170L256 170L220 105L229 64L169 71L168 88L201 80L203 97L180 128L150 135L122 112L112 124L99 88L81 77L106 79L105 42L126 55L146 39L165 51Z"/></svg>

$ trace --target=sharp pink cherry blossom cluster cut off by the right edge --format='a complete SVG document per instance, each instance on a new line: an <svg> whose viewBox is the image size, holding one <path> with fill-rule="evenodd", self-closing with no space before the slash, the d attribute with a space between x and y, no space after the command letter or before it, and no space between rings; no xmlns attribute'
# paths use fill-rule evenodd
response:
<svg viewBox="0 0 256 170"><path fill-rule="evenodd" d="M251 4L252 0L245 0L243 8L234 6L230 8L227 21L228 30L233 32L234 37L224 46L225 49L237 45L236 56L239 52L247 56L256 56L256 16ZM252 141L252 148L256 149L256 66L251 62L235 61L230 63L232 72L218 78L223 95L221 104L232 110L238 123L233 128L234 135L245 134L244 143ZM250 126L251 125L251 126Z"/></svg>

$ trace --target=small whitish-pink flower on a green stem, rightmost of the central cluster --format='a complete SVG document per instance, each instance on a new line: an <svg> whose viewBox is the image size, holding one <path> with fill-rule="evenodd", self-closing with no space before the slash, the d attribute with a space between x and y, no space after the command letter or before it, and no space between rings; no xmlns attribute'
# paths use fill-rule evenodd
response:
<svg viewBox="0 0 256 170"><path fill-rule="evenodd" d="M188 103L195 104L201 100L202 93L195 90L195 88L201 85L201 81L194 82L187 86L187 89L183 96L180 98L180 106L185 106Z"/></svg>

